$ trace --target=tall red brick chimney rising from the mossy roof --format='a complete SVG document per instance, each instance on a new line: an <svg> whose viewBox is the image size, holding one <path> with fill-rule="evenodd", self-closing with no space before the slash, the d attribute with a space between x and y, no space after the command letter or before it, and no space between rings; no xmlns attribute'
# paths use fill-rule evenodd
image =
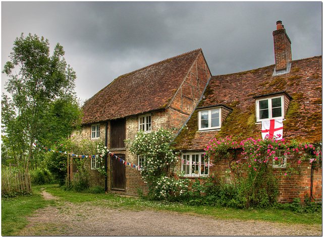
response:
<svg viewBox="0 0 323 237"><path fill-rule="evenodd" d="M277 30L273 31L276 64L275 71L276 73L285 74L289 72L290 62L292 61L292 42L286 34L282 21L276 22L276 25Z"/></svg>

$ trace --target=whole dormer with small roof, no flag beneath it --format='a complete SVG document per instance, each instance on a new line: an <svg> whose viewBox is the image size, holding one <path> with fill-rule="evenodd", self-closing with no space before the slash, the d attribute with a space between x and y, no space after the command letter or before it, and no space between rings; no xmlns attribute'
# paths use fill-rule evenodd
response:
<svg viewBox="0 0 323 237"><path fill-rule="evenodd" d="M198 130L220 129L232 108L224 104L198 108Z"/></svg>

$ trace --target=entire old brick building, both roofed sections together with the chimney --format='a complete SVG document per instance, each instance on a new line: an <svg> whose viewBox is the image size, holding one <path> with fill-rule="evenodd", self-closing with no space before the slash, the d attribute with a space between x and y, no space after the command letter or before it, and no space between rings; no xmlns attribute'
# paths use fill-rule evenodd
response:
<svg viewBox="0 0 323 237"><path fill-rule="evenodd" d="M133 140L139 130L149 133L177 128L180 132L173 147L181 152L182 162L178 162L176 171L194 179L213 172L224 175L233 162L243 158L240 152L213 162L217 157L206 156L205 148L214 138L232 136L241 141L261 138L262 131L267 131L319 148L322 58L293 61L291 40L281 21L273 36L275 64L267 67L211 76L202 50L197 49L118 77L84 104L82 129L74 136L101 139L122 160L140 165L141 157L132 155L124 140ZM274 120L280 123L278 132L271 126ZM264 124L269 127L262 128ZM291 160L288 158L281 155L282 163L273 163L273 168L284 170ZM312 200L321 199L318 158L319 162L302 162L300 175L279 180L278 201L304 200L306 194ZM73 179L76 170L70 160L68 173ZM88 161L92 186L133 196L138 195L138 188L147 192L137 169L108 157L109 175L103 178L95 162L93 157Z"/></svg>

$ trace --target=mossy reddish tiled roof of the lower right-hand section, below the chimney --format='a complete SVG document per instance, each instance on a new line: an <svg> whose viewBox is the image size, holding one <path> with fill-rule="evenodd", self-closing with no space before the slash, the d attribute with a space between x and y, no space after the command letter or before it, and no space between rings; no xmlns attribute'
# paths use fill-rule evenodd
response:
<svg viewBox="0 0 323 237"><path fill-rule="evenodd" d="M213 137L261 138L256 123L255 96L285 91L292 96L285 115L283 137L321 141L322 56L292 61L290 73L272 76L275 65L251 71L212 76L198 107L225 104L233 111L220 131L198 132L195 111L174 141L177 150L202 150Z"/></svg>

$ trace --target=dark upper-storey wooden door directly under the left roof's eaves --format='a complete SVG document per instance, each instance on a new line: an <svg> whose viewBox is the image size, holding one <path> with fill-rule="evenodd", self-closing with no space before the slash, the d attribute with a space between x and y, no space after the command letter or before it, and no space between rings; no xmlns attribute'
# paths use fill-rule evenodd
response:
<svg viewBox="0 0 323 237"><path fill-rule="evenodd" d="M125 148L126 139L126 120L111 121L111 148Z"/></svg>

